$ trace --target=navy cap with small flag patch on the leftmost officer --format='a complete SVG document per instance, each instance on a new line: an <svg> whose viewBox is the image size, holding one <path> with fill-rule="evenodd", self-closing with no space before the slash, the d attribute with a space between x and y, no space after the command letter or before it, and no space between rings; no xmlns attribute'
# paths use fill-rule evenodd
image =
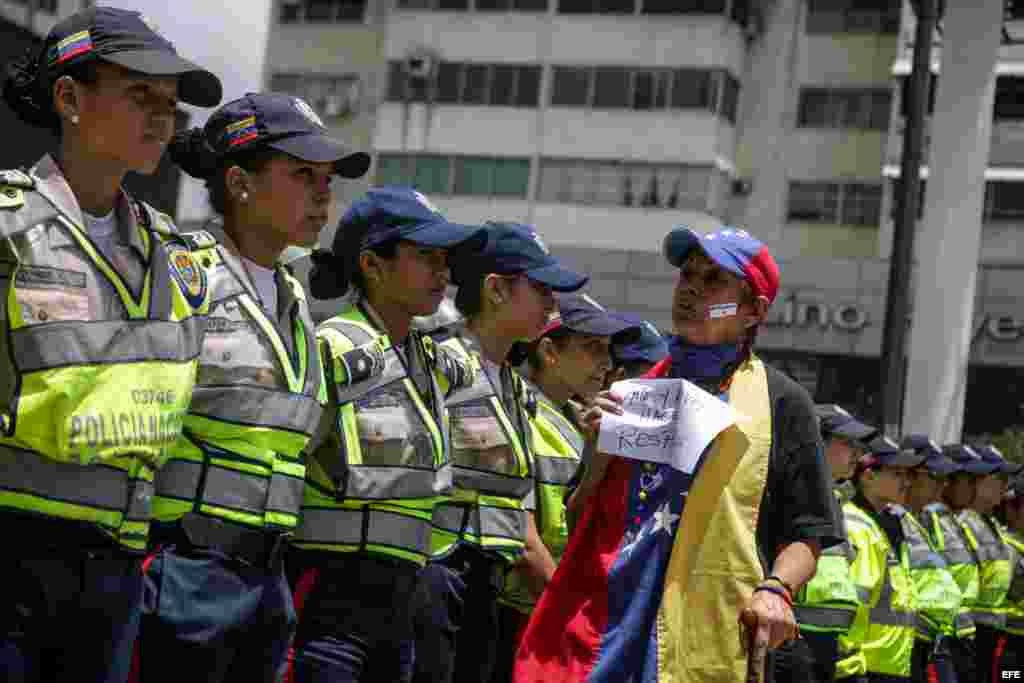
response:
<svg viewBox="0 0 1024 683"><path fill-rule="evenodd" d="M178 97L196 106L216 106L223 93L220 79L180 56L144 14L116 7L90 7L54 25L43 46L41 77L52 83L96 59L146 76L177 76Z"/></svg>

